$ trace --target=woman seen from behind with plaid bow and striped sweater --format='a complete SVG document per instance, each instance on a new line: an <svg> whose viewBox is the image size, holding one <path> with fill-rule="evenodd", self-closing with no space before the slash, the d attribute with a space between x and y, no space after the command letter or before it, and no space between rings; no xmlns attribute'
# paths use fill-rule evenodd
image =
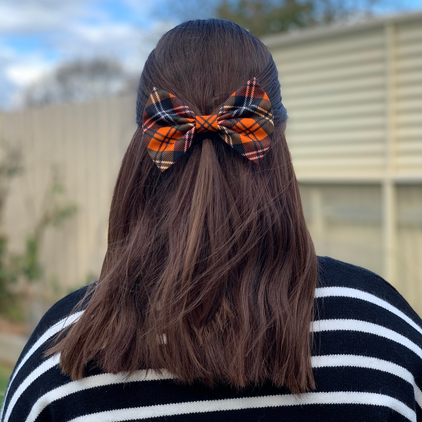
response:
<svg viewBox="0 0 422 422"><path fill-rule="evenodd" d="M97 284L54 305L2 421L422 420L421 320L314 253L271 54L224 20L150 54Z"/></svg>

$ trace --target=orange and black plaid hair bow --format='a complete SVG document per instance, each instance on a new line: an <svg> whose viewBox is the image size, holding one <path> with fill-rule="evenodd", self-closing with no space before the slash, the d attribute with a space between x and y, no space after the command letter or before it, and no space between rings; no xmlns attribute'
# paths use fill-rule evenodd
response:
<svg viewBox="0 0 422 422"><path fill-rule="evenodd" d="M153 88L143 112L143 140L161 171L192 145L197 133L211 131L258 163L271 144L274 120L270 100L255 78L225 101L214 116L195 113L173 94Z"/></svg>

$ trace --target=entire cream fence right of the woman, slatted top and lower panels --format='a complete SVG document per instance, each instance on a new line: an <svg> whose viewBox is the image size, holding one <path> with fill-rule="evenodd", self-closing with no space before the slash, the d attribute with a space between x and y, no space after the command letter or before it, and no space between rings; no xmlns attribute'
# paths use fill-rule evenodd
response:
<svg viewBox="0 0 422 422"><path fill-rule="evenodd" d="M422 215L422 13L265 42L317 253L381 274L422 315L422 223L403 220ZM371 189L379 220L363 222Z"/></svg>

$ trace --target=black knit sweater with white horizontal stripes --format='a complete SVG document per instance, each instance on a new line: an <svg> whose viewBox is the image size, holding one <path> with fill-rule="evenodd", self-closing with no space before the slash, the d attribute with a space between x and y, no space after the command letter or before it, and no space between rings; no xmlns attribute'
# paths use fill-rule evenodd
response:
<svg viewBox="0 0 422 422"><path fill-rule="evenodd" d="M379 276L319 258L319 321L312 353L317 390L292 395L271 384L236 391L176 382L144 371L130 379L100 373L71 381L48 340L85 288L57 302L25 346L3 403L2 422L422 421L422 321Z"/></svg>

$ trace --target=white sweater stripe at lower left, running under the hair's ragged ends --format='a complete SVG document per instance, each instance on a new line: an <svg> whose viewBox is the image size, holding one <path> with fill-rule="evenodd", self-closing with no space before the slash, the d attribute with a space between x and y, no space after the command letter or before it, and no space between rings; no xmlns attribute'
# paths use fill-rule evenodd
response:
<svg viewBox="0 0 422 422"><path fill-rule="evenodd" d="M28 415L26 422L33 422L37 419L38 415L43 411L46 406L55 400L59 400L70 394L76 393L82 390L88 390L89 388L102 387L110 384L124 384L127 382L136 381L157 381L161 379L173 378L167 371L162 371L162 374L154 371L136 371L131 376L127 376L127 373L102 373L99 375L88 376L87 378L79 379L77 381L71 381L68 384L62 385L55 388L41 396L32 406L30 414Z"/></svg>

